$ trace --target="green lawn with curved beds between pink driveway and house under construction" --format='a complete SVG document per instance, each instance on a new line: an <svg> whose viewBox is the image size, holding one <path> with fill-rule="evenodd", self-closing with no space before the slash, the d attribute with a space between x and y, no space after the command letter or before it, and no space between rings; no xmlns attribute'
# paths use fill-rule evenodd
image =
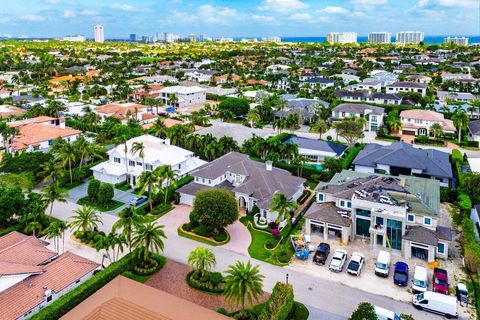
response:
<svg viewBox="0 0 480 320"><path fill-rule="evenodd" d="M273 249L267 249L265 244L267 242L280 241L275 238L269 230L259 230L253 226L253 221L249 217L240 218L240 222L247 226L250 235L252 236L252 243L248 247L248 254L255 259L262 260L277 266L286 266L289 263L289 258L294 254L292 244L290 243L289 231L291 224L282 229L281 242ZM292 234L300 232L302 229L303 220L300 221ZM288 261L287 261L288 260Z"/></svg>

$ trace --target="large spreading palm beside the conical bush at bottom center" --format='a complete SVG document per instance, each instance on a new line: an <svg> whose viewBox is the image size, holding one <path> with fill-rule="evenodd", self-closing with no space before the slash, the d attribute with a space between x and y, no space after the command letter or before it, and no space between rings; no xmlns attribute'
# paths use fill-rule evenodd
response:
<svg viewBox="0 0 480 320"><path fill-rule="evenodd" d="M250 261L247 264L237 261L225 271L225 300L234 306L240 306L245 312L245 303L251 306L257 303L263 294L263 278L258 266L253 267Z"/></svg>

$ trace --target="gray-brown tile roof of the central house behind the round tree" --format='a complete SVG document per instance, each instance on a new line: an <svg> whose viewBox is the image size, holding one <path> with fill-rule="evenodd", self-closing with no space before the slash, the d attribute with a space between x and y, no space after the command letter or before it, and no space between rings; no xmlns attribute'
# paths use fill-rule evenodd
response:
<svg viewBox="0 0 480 320"><path fill-rule="evenodd" d="M230 152L206 163L191 175L213 180L226 172L246 176L244 182L235 186L232 191L258 199L257 205L260 208L268 208L268 203L276 191L291 198L305 182L305 179L295 177L287 170L273 167L269 171L265 163L251 160L247 155L238 152Z"/></svg>

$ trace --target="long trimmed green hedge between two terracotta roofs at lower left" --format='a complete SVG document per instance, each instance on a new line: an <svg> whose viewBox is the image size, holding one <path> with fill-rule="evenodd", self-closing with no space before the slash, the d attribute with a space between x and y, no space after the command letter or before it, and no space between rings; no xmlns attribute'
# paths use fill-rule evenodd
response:
<svg viewBox="0 0 480 320"><path fill-rule="evenodd" d="M134 264L135 260L130 259L130 254L127 254L119 261L109 265L104 270L97 272L92 278L88 279L74 290L53 301L52 304L40 310L30 319L51 320L61 318L97 290L112 281L115 277L132 269Z"/></svg>

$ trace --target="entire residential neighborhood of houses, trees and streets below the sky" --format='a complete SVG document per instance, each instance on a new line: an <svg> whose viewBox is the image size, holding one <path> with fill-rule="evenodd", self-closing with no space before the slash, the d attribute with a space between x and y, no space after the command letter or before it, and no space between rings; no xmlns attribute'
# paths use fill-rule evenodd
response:
<svg viewBox="0 0 480 320"><path fill-rule="evenodd" d="M477 319L480 45L94 35L0 41L0 319Z"/></svg>

